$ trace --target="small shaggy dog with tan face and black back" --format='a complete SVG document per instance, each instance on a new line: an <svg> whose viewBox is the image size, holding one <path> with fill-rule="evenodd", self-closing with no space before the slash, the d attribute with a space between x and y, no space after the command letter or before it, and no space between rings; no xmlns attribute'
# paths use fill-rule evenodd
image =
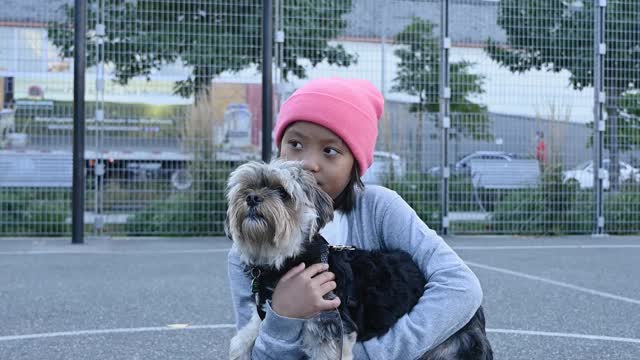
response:
<svg viewBox="0 0 640 360"><path fill-rule="evenodd" d="M336 312L305 322L303 351L309 359L351 359L356 341L386 333L424 292L426 280L403 251L330 246L319 230L333 219L333 201L301 162L248 162L229 176L225 231L253 278L252 318L232 338L229 357L250 359L264 305L278 280L300 262L324 262L335 273ZM491 360L482 308L461 330L423 360Z"/></svg>

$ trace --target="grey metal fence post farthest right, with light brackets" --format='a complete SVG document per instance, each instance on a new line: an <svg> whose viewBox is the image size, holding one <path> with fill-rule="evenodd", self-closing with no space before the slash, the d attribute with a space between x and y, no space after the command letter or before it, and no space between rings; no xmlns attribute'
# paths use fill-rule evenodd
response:
<svg viewBox="0 0 640 360"><path fill-rule="evenodd" d="M603 182L604 168L602 152L604 147L604 106L606 101L604 91L604 57L606 54L605 44L605 7L606 0L593 0L594 2L594 71L593 71L593 91L594 91L594 126L593 126L593 198L595 201L594 212L594 232L593 235L604 234L604 204L603 204ZM611 186L611 184L609 184Z"/></svg>

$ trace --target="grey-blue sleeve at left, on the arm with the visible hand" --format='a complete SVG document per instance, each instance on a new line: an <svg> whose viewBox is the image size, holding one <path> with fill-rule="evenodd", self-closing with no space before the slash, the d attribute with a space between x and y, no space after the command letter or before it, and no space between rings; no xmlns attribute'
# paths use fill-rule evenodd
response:
<svg viewBox="0 0 640 360"><path fill-rule="evenodd" d="M251 296L251 279L244 272L240 255L235 246L228 256L228 274L233 308L236 315L236 330L244 327L253 313L255 303ZM302 352L302 327L305 320L283 317L271 309L267 302L266 316L253 347L253 360L277 359L299 360Z"/></svg>

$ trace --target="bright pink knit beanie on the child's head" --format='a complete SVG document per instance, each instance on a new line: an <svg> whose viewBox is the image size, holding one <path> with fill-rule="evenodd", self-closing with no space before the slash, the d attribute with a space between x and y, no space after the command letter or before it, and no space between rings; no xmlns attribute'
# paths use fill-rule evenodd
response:
<svg viewBox="0 0 640 360"><path fill-rule="evenodd" d="M338 135L358 162L360 176L373 162L384 98L367 80L328 78L306 83L284 102L275 127L278 149L296 121L323 126Z"/></svg>

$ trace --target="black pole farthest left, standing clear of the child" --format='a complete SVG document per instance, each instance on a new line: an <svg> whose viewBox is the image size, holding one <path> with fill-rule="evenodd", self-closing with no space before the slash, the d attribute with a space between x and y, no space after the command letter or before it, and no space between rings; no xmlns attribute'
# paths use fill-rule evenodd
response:
<svg viewBox="0 0 640 360"><path fill-rule="evenodd" d="M84 75L86 0L75 0L73 62L73 184L71 243L84 243Z"/></svg>

